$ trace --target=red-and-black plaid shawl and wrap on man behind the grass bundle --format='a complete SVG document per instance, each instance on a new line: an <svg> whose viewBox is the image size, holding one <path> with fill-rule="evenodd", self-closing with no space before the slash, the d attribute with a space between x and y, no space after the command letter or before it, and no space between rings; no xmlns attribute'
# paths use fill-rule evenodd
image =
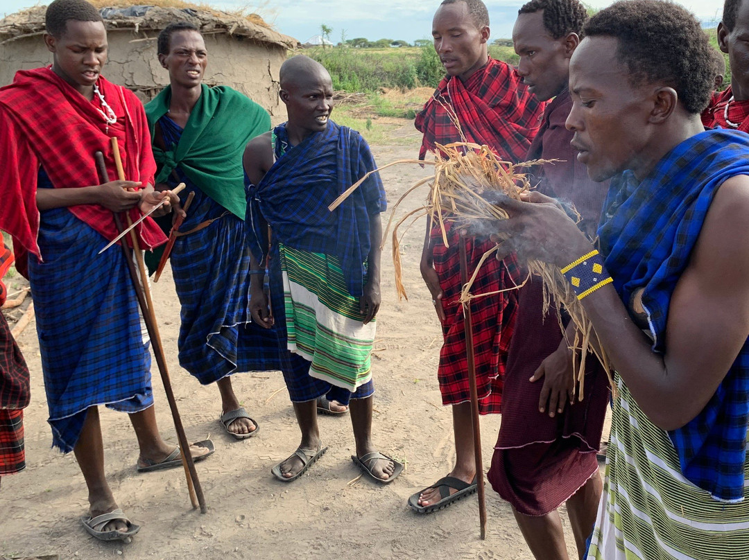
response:
<svg viewBox="0 0 749 560"><path fill-rule="evenodd" d="M449 107L449 109L448 109ZM461 134L452 121L458 118L464 138L486 144L501 159L521 162L541 125L545 104L527 91L515 69L490 58L488 64L467 79L446 77L434 96L416 117L416 128L424 133L419 158L434 143L461 141ZM470 399L468 362L464 335L463 310L458 305L461 290L458 232L449 229L447 248L439 228L431 232L434 269L444 292L444 344L440 350L440 381L443 404L460 404ZM469 276L479 259L494 246L490 240L467 240ZM503 290L518 281L514 259L499 262L489 258L473 284L475 294ZM499 413L502 400L502 379L509 342L515 324L518 296L508 291L473 300L473 346L476 353L476 382L479 409L482 414Z"/></svg>

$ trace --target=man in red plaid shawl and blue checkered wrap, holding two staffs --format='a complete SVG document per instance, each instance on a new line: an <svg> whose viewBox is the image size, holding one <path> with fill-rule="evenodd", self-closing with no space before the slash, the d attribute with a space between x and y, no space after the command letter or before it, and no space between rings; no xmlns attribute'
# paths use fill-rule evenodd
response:
<svg viewBox="0 0 749 560"><path fill-rule="evenodd" d="M55 0L45 27L52 66L19 71L0 89L0 229L13 235L19 261L28 252L52 445L73 451L85 478L90 508L82 523L95 538L129 542L139 526L106 480L99 405L130 416L139 471L182 463L158 431L127 261L117 247L98 252L118 233L114 212L136 219L171 195L152 186L156 164L142 104L100 76L108 45L99 11L85 0ZM112 138L130 180L98 177L96 151L115 174ZM151 220L137 231L142 247L166 241Z"/></svg>

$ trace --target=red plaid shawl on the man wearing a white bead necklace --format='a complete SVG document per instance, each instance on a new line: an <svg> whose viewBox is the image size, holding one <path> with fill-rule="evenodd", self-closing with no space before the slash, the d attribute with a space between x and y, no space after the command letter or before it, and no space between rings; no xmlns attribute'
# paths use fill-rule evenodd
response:
<svg viewBox="0 0 749 560"><path fill-rule="evenodd" d="M154 183L156 163L142 104L132 92L102 77L98 85L117 116L117 123L109 127L97 110L98 98L88 101L49 67L22 70L11 85L0 88L0 229L13 235L19 261L25 257L23 249L40 256L36 204L40 165L56 188L98 185L94 152L104 153L110 177L117 177L109 144L110 137L116 136L127 179L142 181L144 186ZM70 212L107 239L117 237L112 212L106 208L86 204L70 207ZM133 221L139 216L137 209L131 210ZM166 242L151 219L139 226L139 237L146 249Z"/></svg>

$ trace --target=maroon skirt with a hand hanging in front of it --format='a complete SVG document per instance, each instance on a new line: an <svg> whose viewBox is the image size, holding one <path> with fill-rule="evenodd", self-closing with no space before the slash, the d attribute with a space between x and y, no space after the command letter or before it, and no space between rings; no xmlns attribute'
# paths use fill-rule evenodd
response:
<svg viewBox="0 0 749 560"><path fill-rule="evenodd" d="M589 359L584 399L567 404L562 414L539 413L543 379L528 380L562 341L554 309L543 313L542 282L521 288L518 320L505 373L502 424L488 479L500 496L524 515L559 508L598 471L608 378L598 360Z"/></svg>

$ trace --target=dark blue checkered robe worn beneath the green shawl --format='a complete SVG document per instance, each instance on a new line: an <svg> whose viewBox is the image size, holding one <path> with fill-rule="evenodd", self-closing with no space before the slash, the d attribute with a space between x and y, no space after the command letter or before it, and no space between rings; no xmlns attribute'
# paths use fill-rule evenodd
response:
<svg viewBox="0 0 749 560"><path fill-rule="evenodd" d="M178 144L183 129L168 116L159 120L166 145ZM240 371L278 371L275 335L252 323L249 313L249 229L245 222L192 183L181 167L169 186L185 183L182 203L195 192L181 231L201 222L207 228L178 237L172 275L181 303L180 365L203 384Z"/></svg>

